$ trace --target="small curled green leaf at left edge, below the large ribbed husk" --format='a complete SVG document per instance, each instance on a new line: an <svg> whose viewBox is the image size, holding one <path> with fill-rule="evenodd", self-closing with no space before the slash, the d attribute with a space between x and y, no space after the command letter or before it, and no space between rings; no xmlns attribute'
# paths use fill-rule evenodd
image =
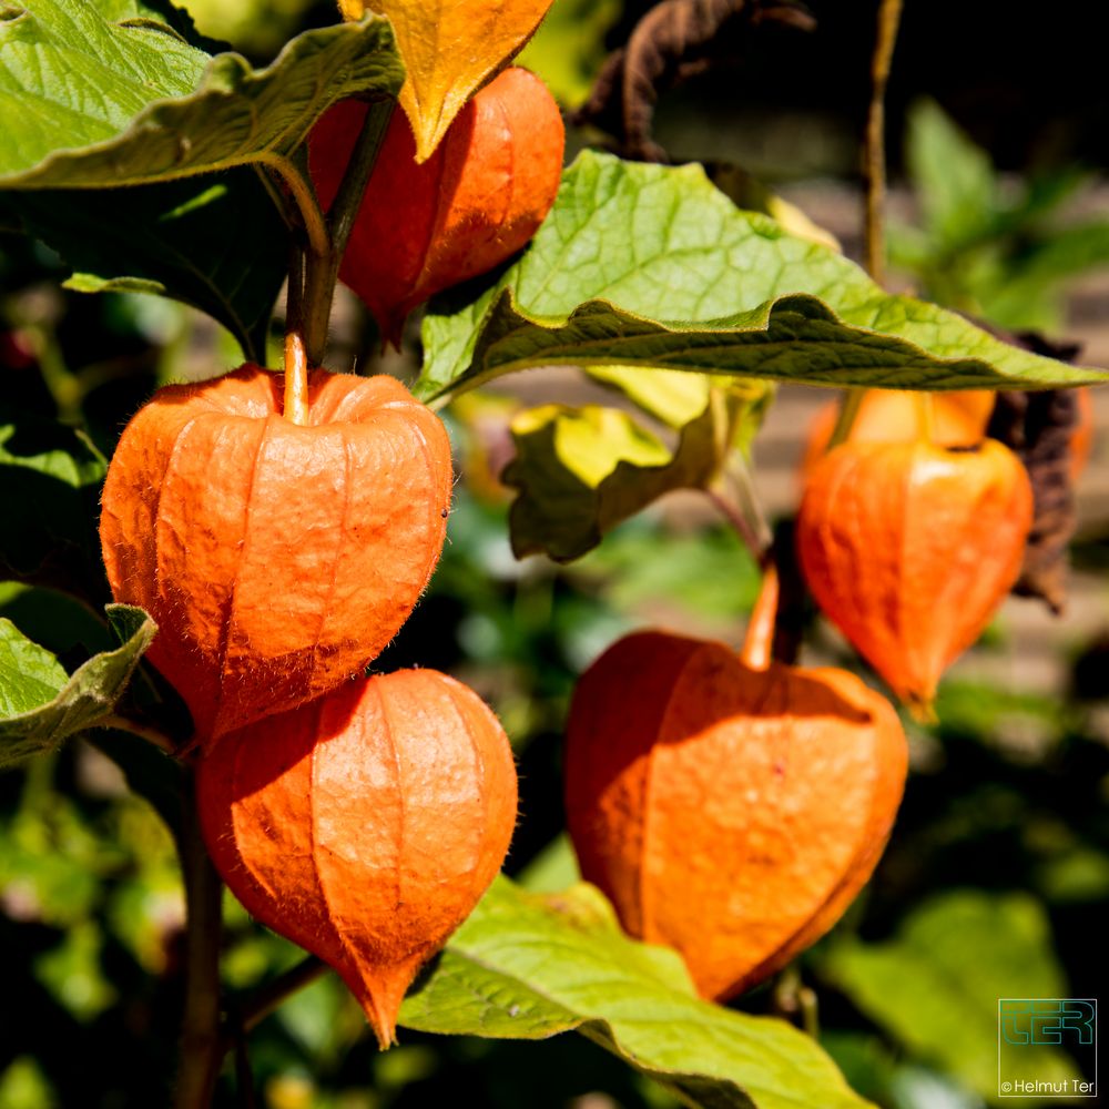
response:
<svg viewBox="0 0 1109 1109"><path fill-rule="evenodd" d="M128 604L109 604L106 612L122 645L93 655L68 680L57 660L50 668L38 655L33 659L32 681L47 688L29 691L22 675L12 676L8 667L0 665L0 706L18 706L28 696L34 699L33 705L6 711L0 718L0 766L55 747L67 736L93 728L112 712L157 627L142 609ZM9 658L32 659L34 644L22 640L18 631L13 634L13 625L8 621L0 621L0 628L4 625L8 625L4 637L11 644Z"/></svg>

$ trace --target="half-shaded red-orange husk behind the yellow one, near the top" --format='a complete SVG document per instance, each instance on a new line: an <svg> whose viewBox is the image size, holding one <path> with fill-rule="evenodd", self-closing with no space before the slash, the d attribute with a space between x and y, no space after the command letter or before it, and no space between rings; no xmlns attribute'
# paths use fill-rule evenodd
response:
<svg viewBox="0 0 1109 1109"><path fill-rule="evenodd" d="M329 109L308 139L308 164L329 207L367 106ZM554 203L566 131L533 73L500 73L458 113L423 164L395 111L350 234L339 276L397 343L416 305L491 269L525 246Z"/></svg>

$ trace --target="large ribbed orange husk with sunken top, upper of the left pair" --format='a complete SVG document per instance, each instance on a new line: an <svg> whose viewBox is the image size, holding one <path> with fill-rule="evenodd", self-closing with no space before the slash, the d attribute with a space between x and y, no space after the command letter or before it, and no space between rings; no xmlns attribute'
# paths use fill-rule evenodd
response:
<svg viewBox="0 0 1109 1109"><path fill-rule="evenodd" d="M100 538L118 601L206 743L346 681L427 586L450 505L441 421L390 377L316 370L308 425L243 366L159 390L128 425Z"/></svg>

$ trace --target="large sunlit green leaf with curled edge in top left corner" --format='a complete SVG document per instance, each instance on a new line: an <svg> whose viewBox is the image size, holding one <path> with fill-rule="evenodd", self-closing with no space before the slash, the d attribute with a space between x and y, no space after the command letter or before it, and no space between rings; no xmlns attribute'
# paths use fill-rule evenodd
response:
<svg viewBox="0 0 1109 1109"><path fill-rule="evenodd" d="M336 100L394 95L404 79L381 20L307 31L254 70L91 3L2 10L0 189L115 187L272 163Z"/></svg>

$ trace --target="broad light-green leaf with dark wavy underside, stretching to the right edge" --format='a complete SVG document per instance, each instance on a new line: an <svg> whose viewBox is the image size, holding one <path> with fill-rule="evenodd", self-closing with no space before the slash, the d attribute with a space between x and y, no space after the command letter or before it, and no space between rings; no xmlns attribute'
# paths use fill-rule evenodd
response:
<svg viewBox="0 0 1109 1109"><path fill-rule="evenodd" d="M467 294L425 318L425 400L567 364L926 389L1103 380L887 295L835 251L734 207L695 165L579 155L529 250L458 307Z"/></svg>

